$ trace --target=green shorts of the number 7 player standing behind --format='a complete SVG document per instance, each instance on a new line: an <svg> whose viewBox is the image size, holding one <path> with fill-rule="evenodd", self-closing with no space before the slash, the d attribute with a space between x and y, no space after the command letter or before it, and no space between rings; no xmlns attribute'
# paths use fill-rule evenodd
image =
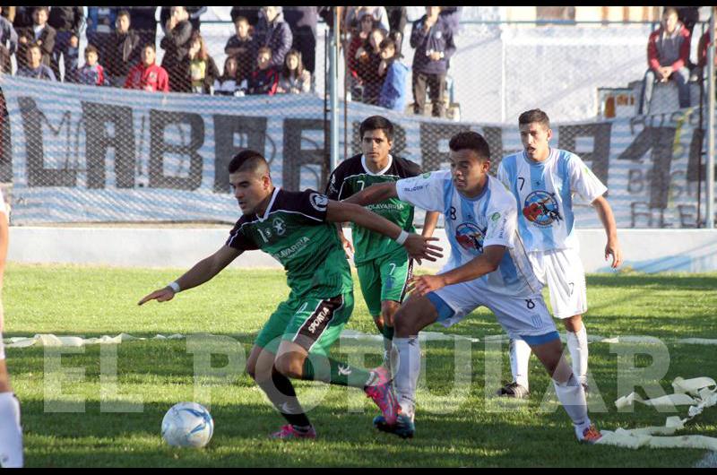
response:
<svg viewBox="0 0 717 475"><path fill-rule="evenodd" d="M378 316L384 300L403 301L406 286L413 276L413 259L399 247L392 254L357 265L356 272L368 313Z"/></svg>

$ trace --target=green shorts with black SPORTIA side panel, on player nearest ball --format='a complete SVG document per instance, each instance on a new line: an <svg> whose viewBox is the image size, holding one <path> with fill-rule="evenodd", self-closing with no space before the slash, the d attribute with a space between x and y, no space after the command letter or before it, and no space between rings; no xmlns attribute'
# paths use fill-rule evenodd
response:
<svg viewBox="0 0 717 475"><path fill-rule="evenodd" d="M312 294L294 296L281 302L261 332L255 345L276 354L282 340L294 341L310 353L329 355L333 342L353 311L353 291L325 298Z"/></svg>

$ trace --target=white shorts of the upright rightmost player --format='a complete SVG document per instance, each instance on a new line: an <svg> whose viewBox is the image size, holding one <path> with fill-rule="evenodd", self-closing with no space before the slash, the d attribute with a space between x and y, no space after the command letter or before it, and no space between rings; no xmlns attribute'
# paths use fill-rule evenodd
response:
<svg viewBox="0 0 717 475"><path fill-rule="evenodd" d="M587 312L585 271L575 249L532 252L528 257L535 275L550 289L550 305L556 318Z"/></svg>

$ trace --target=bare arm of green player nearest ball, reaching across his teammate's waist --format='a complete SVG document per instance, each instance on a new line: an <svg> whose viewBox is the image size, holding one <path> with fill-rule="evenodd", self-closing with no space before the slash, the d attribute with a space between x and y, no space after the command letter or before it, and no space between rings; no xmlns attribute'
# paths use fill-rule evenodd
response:
<svg viewBox="0 0 717 475"><path fill-rule="evenodd" d="M369 186L367 189L378 186L384 186L384 184ZM393 188L395 189L395 186L393 186ZM379 201L383 201L384 199L385 198L382 198ZM347 201L337 202L329 200L326 210L326 220L332 222L351 221L358 224L358 226L376 231L377 233L388 236L394 240L401 237L404 231L398 225L386 220L384 217L379 216L375 212L370 212L358 204L347 203ZM421 259L436 261L436 258L443 257L440 252L443 248L430 244L430 241L437 240L437 238L424 238L418 234L408 233L408 238L406 238L401 244L406 248L410 257L416 259L416 261L420 263Z"/></svg>

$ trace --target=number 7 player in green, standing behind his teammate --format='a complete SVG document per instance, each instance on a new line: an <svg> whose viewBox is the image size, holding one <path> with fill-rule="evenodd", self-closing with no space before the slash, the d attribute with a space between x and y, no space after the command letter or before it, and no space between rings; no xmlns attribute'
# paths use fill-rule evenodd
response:
<svg viewBox="0 0 717 475"><path fill-rule="evenodd" d="M421 170L418 164L394 157L393 124L385 117L372 116L359 128L361 151L341 162L329 179L326 195L333 200L345 200L364 188L378 183L395 182L416 177ZM414 232L413 205L397 198L367 206L401 229ZM436 229L438 212L427 212L422 235L429 238ZM393 315L406 295L408 281L413 274L413 262L406 250L383 234L362 226L352 228L353 246L343 237L341 224L337 225L345 248L353 247L358 282L376 328L384 334L384 364L390 365L393 340Z"/></svg>

